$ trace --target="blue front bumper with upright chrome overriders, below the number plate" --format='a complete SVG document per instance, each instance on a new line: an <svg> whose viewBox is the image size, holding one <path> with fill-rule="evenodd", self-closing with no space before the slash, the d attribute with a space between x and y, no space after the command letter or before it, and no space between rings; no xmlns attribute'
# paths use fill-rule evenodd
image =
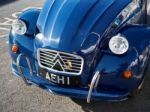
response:
<svg viewBox="0 0 150 112"><path fill-rule="evenodd" d="M105 100L105 101L122 101L128 98L129 92L116 92L116 91L98 91L97 83L99 78L98 74L95 74L90 88L89 87L60 87L56 84L50 83L47 80L42 79L34 70L32 70L32 66L29 62L29 58L26 57L26 61L28 64L28 68L20 66L19 63L21 61L20 54L17 57L17 63L12 64L12 72L13 74L20 76L23 78L24 82L28 85L36 85L40 88L47 90L52 94L59 94L69 97L75 97L79 99L87 99L87 102L90 103L90 100ZM97 80L98 79L98 80Z"/></svg>

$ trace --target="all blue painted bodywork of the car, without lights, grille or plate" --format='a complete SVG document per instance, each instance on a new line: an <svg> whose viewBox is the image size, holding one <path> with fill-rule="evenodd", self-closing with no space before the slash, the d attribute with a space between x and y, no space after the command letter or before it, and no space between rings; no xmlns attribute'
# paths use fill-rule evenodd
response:
<svg viewBox="0 0 150 112"><path fill-rule="evenodd" d="M92 94L92 98L110 101L126 99L142 82L150 54L150 29L145 25L126 24L133 16L138 17L144 24L144 4L131 17L121 21L117 18L131 2L132 0L47 0L42 10L30 9L23 12L19 19L26 22L27 33L15 35L10 32L9 36L13 73L20 76L16 68L16 58L23 53L30 58L34 70L31 75L23 60L21 66L26 78L49 92L86 98L88 84L94 73L100 71L102 76L98 91ZM112 28L115 19L118 27ZM136 24L140 22L136 20ZM42 33L43 37L37 37L38 33ZM117 33L123 34L130 44L129 51L121 56L112 54L108 48L109 39ZM18 54L11 51L14 43L19 47ZM82 56L85 63L81 86L60 87L39 77L38 48ZM131 80L122 77L123 71L127 69L134 73Z"/></svg>

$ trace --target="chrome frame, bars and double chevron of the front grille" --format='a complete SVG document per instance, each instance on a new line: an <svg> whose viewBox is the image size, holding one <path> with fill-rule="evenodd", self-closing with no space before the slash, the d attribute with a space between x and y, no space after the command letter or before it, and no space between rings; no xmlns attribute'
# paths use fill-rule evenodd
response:
<svg viewBox="0 0 150 112"><path fill-rule="evenodd" d="M49 65L49 66L52 66L52 67L46 67L46 66L43 66L42 64L41 64L41 57L40 57L40 52L42 52L43 53L43 51L44 52L54 52L54 54L55 54L55 56L54 56L54 58L53 58L53 60L59 55L59 58L63 61L63 63L66 65L66 62L64 62L64 60L66 60L66 61L71 61L72 62L72 64L73 65L75 65L75 66L77 66L76 68L78 68L78 65L80 65L80 69L79 69L79 72L78 73L73 73L73 72L67 72L66 71L66 67L64 67L63 65L61 65L61 67L63 68L63 71L58 71L58 70L54 70L54 69L52 69L53 68L53 66L52 65L55 65L55 64L52 64L52 65ZM61 56L61 55L63 55L63 56ZM65 56L66 55L66 56ZM70 57L67 57L67 55L68 56L70 56ZM77 60L75 61L75 60L73 60L73 58L72 57L75 57ZM64 58L64 57L67 57L67 58L69 58L68 60L67 59L62 59L62 58ZM46 59L46 58L45 58ZM78 61L78 59L79 60L81 60L81 61ZM45 49L45 48L39 48L38 50L37 50L37 60L38 60L38 64L39 64L39 66L41 67L41 68L45 68L45 69L47 69L47 70L50 70L50 71L52 71L52 72L55 72L55 73L61 73L61 74L67 74L67 75L75 75L75 76L77 76L77 75L81 75L81 73L82 73L82 71L83 71L83 66L84 66L84 59L81 57L81 56L78 56L78 55L74 55L74 54L70 54L70 53L65 53L65 52L61 52L61 51L56 51L56 50L51 50L51 49ZM49 62L45 62L45 63L47 63L47 65L48 65L48 63ZM81 64L79 64L79 63L81 63ZM75 69L70 69L70 70L75 70ZM75 71L77 71L77 70L75 70Z"/></svg>

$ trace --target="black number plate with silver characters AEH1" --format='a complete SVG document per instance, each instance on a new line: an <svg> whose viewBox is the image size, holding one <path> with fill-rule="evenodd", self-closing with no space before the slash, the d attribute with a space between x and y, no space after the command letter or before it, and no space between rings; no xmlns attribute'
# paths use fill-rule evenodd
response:
<svg viewBox="0 0 150 112"><path fill-rule="evenodd" d="M48 72L45 69L40 69L39 75L50 81L51 83L64 85L64 86L79 86L80 85L80 76L71 76L71 75L59 75Z"/></svg>

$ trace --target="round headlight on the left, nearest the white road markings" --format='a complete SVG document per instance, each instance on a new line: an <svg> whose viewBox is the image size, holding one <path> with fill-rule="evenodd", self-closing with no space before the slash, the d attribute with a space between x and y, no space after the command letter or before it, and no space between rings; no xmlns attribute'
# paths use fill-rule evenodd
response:
<svg viewBox="0 0 150 112"><path fill-rule="evenodd" d="M14 20L12 23L12 31L18 35L24 35L27 31L27 26L22 20Z"/></svg>

